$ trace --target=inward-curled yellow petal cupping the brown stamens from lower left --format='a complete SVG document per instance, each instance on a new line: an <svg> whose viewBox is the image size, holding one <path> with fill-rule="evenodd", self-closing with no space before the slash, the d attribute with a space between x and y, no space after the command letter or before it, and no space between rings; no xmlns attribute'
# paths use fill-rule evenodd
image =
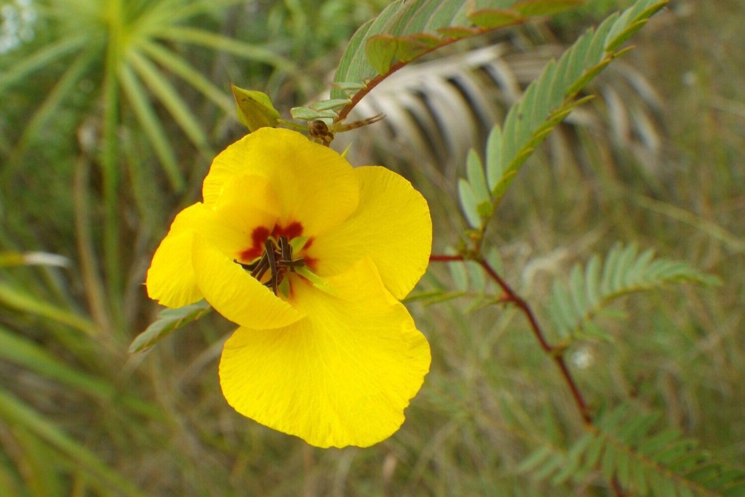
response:
<svg viewBox="0 0 745 497"><path fill-rule="evenodd" d="M205 300L234 323L256 329L279 328L304 315L197 235L191 259Z"/></svg>

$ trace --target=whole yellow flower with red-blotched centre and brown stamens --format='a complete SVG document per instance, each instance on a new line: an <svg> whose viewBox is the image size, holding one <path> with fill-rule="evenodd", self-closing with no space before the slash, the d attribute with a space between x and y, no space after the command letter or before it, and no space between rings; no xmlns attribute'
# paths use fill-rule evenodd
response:
<svg viewBox="0 0 745 497"><path fill-rule="evenodd" d="M393 434L430 364L399 302L428 264L422 195L264 127L215 157L203 199L176 216L147 287L172 308L206 299L240 325L220 362L228 403L314 446Z"/></svg>

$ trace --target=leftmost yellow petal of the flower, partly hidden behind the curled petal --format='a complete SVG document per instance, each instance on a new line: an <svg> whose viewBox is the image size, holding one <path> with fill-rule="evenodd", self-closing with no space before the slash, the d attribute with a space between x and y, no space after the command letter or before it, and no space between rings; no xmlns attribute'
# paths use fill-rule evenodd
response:
<svg viewBox="0 0 745 497"><path fill-rule="evenodd" d="M202 299L191 266L192 232L203 206L195 203L179 212L168 235L160 242L150 263L145 285L148 296L162 306L177 308Z"/></svg>

